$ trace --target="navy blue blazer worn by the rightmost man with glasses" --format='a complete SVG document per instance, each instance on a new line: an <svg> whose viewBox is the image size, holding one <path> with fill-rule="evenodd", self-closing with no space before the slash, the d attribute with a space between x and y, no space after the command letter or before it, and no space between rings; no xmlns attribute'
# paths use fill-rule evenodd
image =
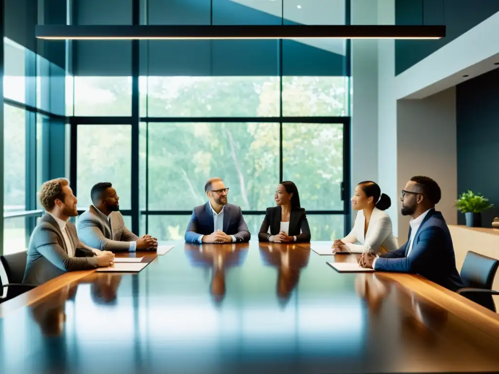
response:
<svg viewBox="0 0 499 374"><path fill-rule="evenodd" d="M451 233L441 212L435 209L428 212L407 257L410 240L411 229L404 245L376 260L376 270L416 273L452 291L464 287L456 269Z"/></svg>

